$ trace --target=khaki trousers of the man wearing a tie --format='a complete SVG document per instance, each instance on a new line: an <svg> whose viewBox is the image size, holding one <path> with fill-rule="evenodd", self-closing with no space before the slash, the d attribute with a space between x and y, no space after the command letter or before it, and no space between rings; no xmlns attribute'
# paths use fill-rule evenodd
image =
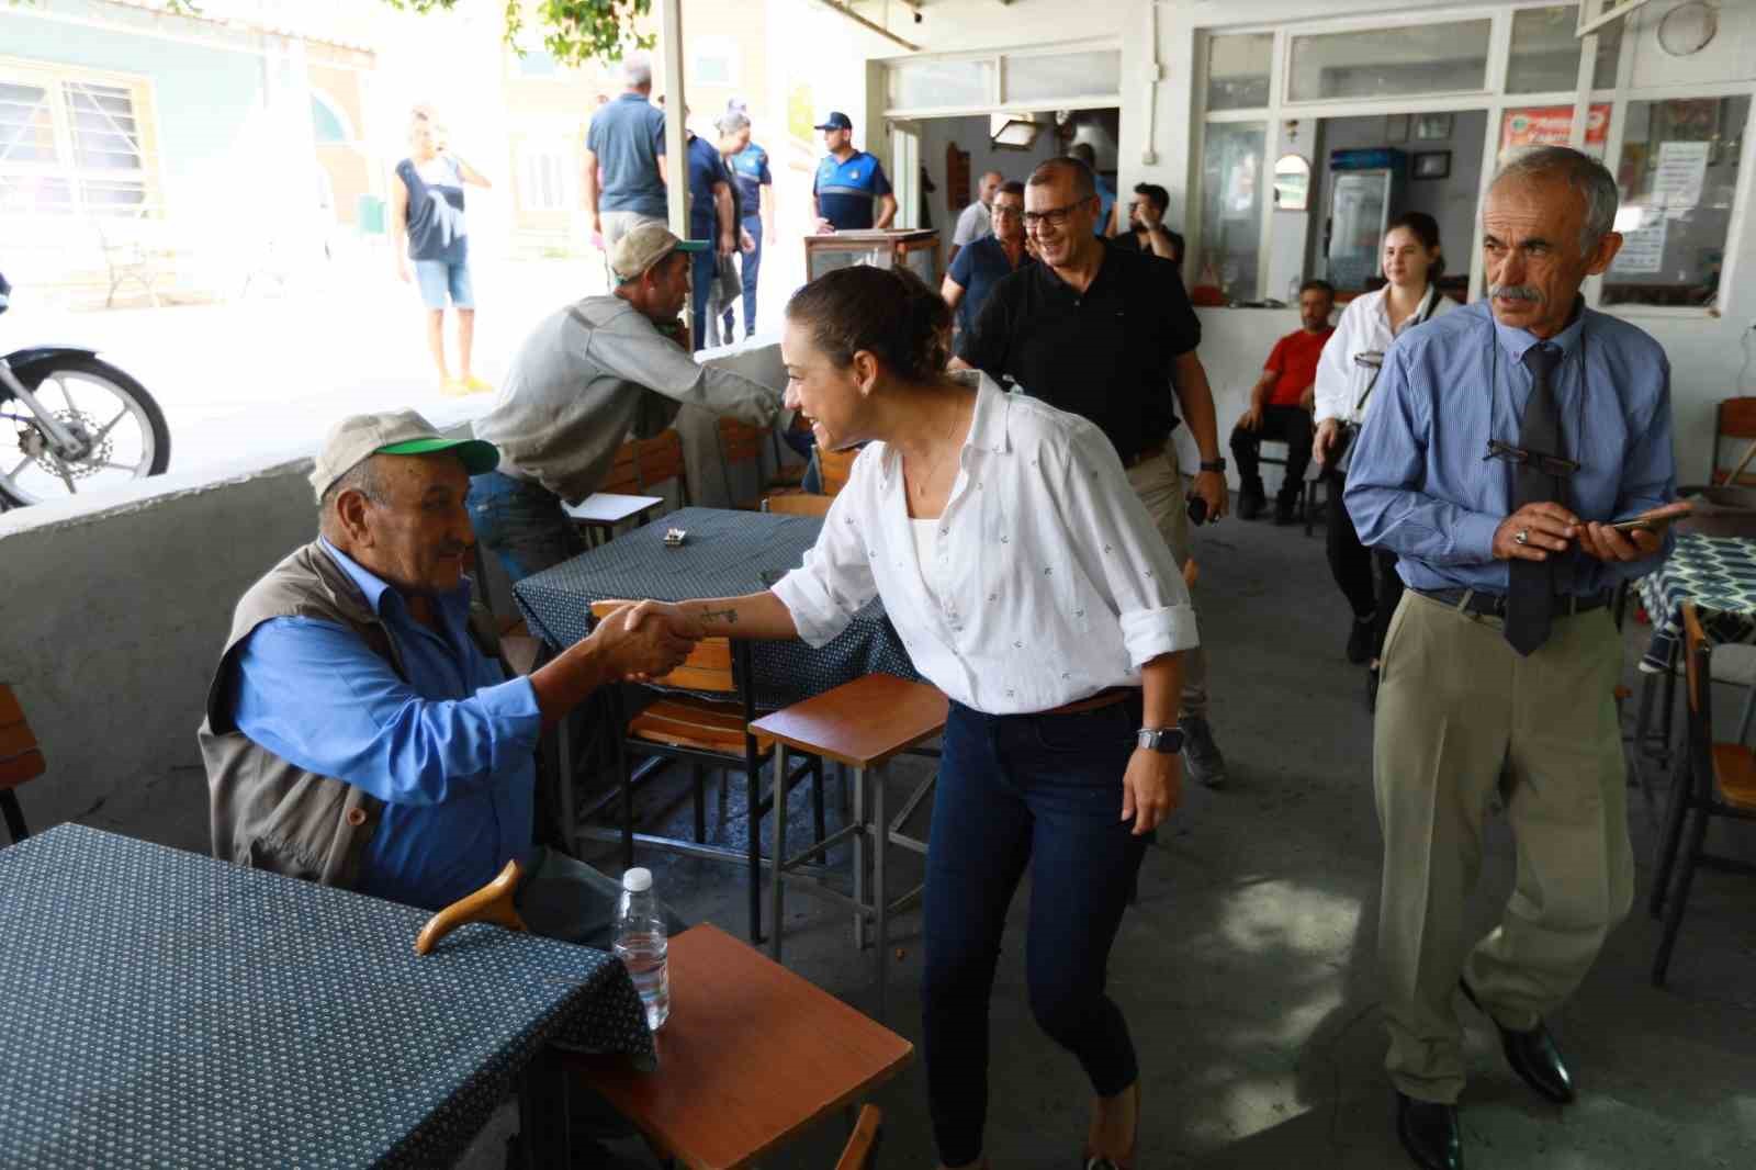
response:
<svg viewBox="0 0 1756 1170"><path fill-rule="evenodd" d="M1463 1091L1459 975L1503 1026L1535 1028L1633 899L1610 611L1558 617L1528 659L1500 629L1410 590L1384 641L1373 776L1385 1066L1426 1101ZM1517 840L1517 889L1475 942L1465 901L1496 787Z"/></svg>

